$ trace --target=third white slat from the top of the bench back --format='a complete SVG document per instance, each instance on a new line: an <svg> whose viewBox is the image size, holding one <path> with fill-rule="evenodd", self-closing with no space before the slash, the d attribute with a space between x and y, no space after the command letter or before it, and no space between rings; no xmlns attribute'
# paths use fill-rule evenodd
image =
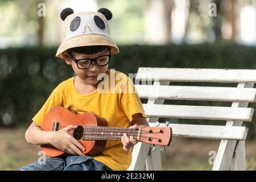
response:
<svg viewBox="0 0 256 182"><path fill-rule="evenodd" d="M253 108L143 104L147 117L251 121Z"/></svg>

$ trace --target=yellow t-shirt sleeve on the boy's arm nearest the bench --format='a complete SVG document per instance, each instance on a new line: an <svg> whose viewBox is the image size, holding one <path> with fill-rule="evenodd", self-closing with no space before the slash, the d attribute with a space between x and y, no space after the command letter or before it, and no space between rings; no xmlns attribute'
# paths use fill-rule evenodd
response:
<svg viewBox="0 0 256 182"><path fill-rule="evenodd" d="M133 120L133 114L141 113L142 117L146 118L142 102L139 99L137 90L130 79L128 79L126 85L123 87L121 93L121 106L130 122Z"/></svg>

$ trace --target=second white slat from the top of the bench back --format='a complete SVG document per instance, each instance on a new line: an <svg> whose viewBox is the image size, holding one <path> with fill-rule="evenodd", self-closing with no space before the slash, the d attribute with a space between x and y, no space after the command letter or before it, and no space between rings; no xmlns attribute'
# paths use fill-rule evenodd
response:
<svg viewBox="0 0 256 182"><path fill-rule="evenodd" d="M255 102L256 89L210 86L135 85L141 98L166 100L205 100L227 102Z"/></svg>

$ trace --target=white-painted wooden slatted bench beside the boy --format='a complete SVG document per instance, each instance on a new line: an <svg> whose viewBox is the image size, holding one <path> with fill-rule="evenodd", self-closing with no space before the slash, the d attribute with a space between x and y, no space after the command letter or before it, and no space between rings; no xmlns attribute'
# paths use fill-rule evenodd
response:
<svg viewBox="0 0 256 182"><path fill-rule="evenodd" d="M188 137L220 140L213 170L245 170L245 140L255 102L256 70L253 69L186 69L186 68L139 68L136 80L152 80L152 85L136 84L140 98L147 98L143 104L150 126L159 118L191 119L191 125L170 122L173 137ZM173 86L170 82L229 82L237 87L221 86ZM166 105L164 100L197 100L232 102L230 107ZM193 119L226 121L220 125L192 125ZM160 123L160 126L165 126ZM160 150L150 150L150 145L138 143L133 148L133 160L128 170L161 170Z"/></svg>

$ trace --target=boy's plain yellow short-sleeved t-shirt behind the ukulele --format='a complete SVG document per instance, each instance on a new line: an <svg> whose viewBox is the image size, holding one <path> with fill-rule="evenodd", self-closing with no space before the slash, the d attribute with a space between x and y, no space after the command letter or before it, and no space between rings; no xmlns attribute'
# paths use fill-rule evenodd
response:
<svg viewBox="0 0 256 182"><path fill-rule="evenodd" d="M32 121L41 126L44 116L56 106L63 106L78 114L90 112L101 115L108 121L108 126L112 127L130 127L132 115L136 113L142 113L142 116L146 117L130 78L113 70L108 73L108 78L104 79L94 92L85 95L76 90L75 77L61 82ZM134 92L129 92L130 90ZM126 170L131 163L131 150L125 152L122 147L121 140L108 140L104 152L93 158L113 170Z"/></svg>

